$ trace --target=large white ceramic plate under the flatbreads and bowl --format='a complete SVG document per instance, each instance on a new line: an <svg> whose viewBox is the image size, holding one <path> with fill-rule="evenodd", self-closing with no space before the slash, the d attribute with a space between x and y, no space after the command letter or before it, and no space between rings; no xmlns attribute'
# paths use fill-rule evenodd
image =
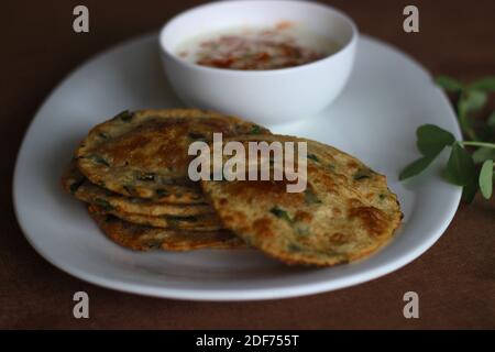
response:
<svg viewBox="0 0 495 352"><path fill-rule="evenodd" d="M410 57L364 36L342 96L321 116L273 131L334 145L387 176L405 219L386 248L360 262L318 270L288 267L253 250L127 251L107 240L84 206L61 190L59 175L96 123L124 109L177 106L161 69L155 35L98 55L55 89L25 135L13 185L19 222L40 254L87 282L142 295L293 297L355 285L402 267L439 239L459 205L460 188L442 182L438 166L413 183L397 180L404 165L418 156L418 125L436 123L460 138L446 96Z"/></svg>

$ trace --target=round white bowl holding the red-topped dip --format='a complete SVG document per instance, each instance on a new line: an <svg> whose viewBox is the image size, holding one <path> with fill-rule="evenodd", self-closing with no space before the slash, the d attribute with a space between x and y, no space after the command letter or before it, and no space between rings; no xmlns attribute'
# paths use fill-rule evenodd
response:
<svg viewBox="0 0 495 352"><path fill-rule="evenodd" d="M206 67L176 53L184 41L199 34L245 25L266 28L280 21L300 24L341 48L310 64L270 70ZM348 81L356 42L356 26L342 12L319 3L287 0L200 6L173 18L160 34L166 75L184 102L263 124L306 119L329 106Z"/></svg>

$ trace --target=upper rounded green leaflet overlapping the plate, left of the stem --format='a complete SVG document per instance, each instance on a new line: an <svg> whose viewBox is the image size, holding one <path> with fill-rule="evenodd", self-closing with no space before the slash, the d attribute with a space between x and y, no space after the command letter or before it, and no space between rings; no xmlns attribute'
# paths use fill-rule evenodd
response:
<svg viewBox="0 0 495 352"><path fill-rule="evenodd" d="M438 155L446 146L455 142L452 133L435 124L419 127L416 135L416 145L422 155Z"/></svg>

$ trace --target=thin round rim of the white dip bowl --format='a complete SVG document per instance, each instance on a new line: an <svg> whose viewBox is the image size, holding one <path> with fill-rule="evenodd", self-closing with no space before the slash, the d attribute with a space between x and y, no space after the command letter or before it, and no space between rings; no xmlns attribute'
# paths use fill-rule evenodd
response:
<svg viewBox="0 0 495 352"><path fill-rule="evenodd" d="M294 3L294 2L298 2L304 6L321 8L321 9L324 9L326 11L330 10L333 13L336 13L337 15L339 15L340 18L342 18L344 20L344 22L346 22L346 24L351 28L351 38L338 52L327 55L323 58L317 59L316 62L302 64L299 66L275 68L275 69L228 69L228 68L218 68L218 67L211 67L211 66L201 66L198 64L189 63L189 62L185 61L184 58L178 57L170 50L168 50L168 47L164 44L163 37L165 35L165 32L168 30L168 28L170 26L170 24L173 22L180 20L180 18L186 16L187 14L189 14L191 12L196 12L196 11L199 11L205 8L210 8L210 7L220 8L224 4L235 3L235 2L237 3L240 3L240 2L244 2L244 3L245 2L252 2L252 3L266 3L266 2L277 2L277 3L292 2L292 3ZM277 74L278 75L278 74L285 74L288 72L306 69L308 67L315 67L317 65L321 65L324 62L331 61L334 57L340 56L349 47L353 46L358 42L358 37L359 37L359 30L358 30L358 26L354 23L354 21L344 12L342 12L331 6L328 6L328 4L312 2L312 1L311 2L299 1L299 0L235 0L235 1L219 1L219 2L200 4L200 6L190 8L188 10L185 10L185 11L174 15L162 26L162 29L160 31L158 42L160 42L160 47L162 50L162 53L168 55L173 61L179 63L180 65L187 66L191 69L218 73L221 75L266 75L266 74L271 74L271 75Z"/></svg>

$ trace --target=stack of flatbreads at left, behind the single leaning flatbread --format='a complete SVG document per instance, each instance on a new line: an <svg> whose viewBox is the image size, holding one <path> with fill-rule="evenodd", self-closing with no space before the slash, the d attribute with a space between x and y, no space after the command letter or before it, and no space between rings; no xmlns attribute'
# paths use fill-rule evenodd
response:
<svg viewBox="0 0 495 352"><path fill-rule="evenodd" d="M224 136L270 133L201 110L124 111L88 133L62 184L88 205L110 239L127 248L244 246L223 228L200 185L188 178L189 144L210 141L213 132Z"/></svg>

